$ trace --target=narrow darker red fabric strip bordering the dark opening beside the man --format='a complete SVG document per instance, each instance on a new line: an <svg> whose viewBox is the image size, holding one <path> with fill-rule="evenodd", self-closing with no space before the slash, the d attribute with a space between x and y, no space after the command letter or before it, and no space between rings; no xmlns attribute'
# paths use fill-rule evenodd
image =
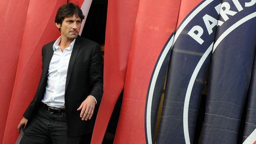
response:
<svg viewBox="0 0 256 144"><path fill-rule="evenodd" d="M101 143L123 89L139 0L108 1L104 57L104 94L91 143Z"/></svg>

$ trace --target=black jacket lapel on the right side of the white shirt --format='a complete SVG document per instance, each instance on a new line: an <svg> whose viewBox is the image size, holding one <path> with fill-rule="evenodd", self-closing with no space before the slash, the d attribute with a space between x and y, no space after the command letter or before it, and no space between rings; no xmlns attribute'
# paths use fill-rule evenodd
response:
<svg viewBox="0 0 256 144"><path fill-rule="evenodd" d="M66 85L65 85L65 91L66 89L68 88L68 84L69 84L69 80L71 78L71 73L73 71L73 65L75 63L75 60L76 60L76 56L78 55L78 52L79 52L79 48L80 48L80 39L79 37L76 39L75 41L75 44L73 46L73 50L72 50L72 53L71 53L71 58L69 60L69 65L68 65L68 73L67 73L67 76L66 76Z"/></svg>

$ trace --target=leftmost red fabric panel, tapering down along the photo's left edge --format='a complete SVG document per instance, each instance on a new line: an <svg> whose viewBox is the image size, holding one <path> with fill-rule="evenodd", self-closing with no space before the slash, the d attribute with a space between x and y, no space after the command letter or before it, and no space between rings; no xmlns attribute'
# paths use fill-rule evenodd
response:
<svg viewBox="0 0 256 144"><path fill-rule="evenodd" d="M3 0L0 5L0 143L14 87L15 74L24 33L28 9L27 0Z"/></svg>

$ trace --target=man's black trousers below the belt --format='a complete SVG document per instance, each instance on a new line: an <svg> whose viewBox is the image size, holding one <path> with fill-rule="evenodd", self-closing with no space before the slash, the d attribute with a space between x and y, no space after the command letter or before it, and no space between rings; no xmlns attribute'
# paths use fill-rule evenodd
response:
<svg viewBox="0 0 256 144"><path fill-rule="evenodd" d="M92 133L79 137L68 136L66 114L52 114L40 108L24 130L21 144L79 144L90 143Z"/></svg>

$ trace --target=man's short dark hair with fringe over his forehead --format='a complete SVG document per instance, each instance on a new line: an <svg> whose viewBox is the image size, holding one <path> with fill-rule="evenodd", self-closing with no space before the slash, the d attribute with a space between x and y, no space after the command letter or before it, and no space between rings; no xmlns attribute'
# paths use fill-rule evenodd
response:
<svg viewBox="0 0 256 144"><path fill-rule="evenodd" d="M62 5L62 7L57 10L55 23L62 24L63 20L66 17L72 17L73 15L78 16L79 18L81 18L81 20L84 20L85 17L78 5L75 5L73 3Z"/></svg>

